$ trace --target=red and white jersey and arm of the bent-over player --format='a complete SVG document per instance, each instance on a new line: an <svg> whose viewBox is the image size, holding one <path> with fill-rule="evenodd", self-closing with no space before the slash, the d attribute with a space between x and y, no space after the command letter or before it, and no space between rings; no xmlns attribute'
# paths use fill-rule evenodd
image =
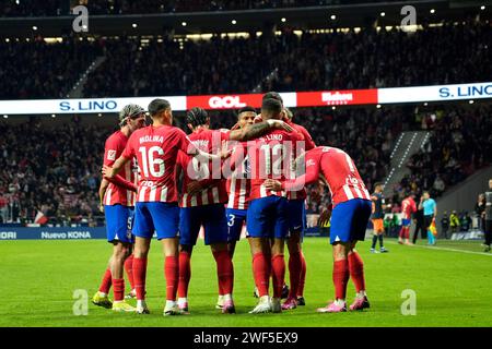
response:
<svg viewBox="0 0 492 349"><path fill-rule="evenodd" d="M288 190L315 183L323 174L331 193L333 208L352 198L371 200L352 158L343 151L329 146L318 146L306 153L306 173L295 181L283 183Z"/></svg>

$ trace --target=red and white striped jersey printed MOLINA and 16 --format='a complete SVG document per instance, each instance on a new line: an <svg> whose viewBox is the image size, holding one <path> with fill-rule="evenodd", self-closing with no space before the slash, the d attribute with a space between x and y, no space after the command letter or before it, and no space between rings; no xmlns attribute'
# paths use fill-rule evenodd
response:
<svg viewBox="0 0 492 349"><path fill-rule="evenodd" d="M197 151L178 128L150 125L131 134L122 156L139 164L137 202L177 202L176 159L181 152Z"/></svg>

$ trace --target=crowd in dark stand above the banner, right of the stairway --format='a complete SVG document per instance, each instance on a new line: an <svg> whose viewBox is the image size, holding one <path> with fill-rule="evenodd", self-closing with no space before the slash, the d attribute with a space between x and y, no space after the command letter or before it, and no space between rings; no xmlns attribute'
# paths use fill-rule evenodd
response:
<svg viewBox="0 0 492 349"><path fill-rule="evenodd" d="M84 93L200 95L250 93L257 85L293 92L479 82L492 75L491 46L490 26L477 23L413 34L364 29L297 36L285 29L280 36L152 40L144 47L112 43Z"/></svg>

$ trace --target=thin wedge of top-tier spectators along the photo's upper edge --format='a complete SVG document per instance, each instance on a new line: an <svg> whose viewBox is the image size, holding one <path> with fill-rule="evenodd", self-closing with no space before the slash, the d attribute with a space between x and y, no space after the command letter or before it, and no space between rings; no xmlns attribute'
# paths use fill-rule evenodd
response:
<svg viewBox="0 0 492 349"><path fill-rule="evenodd" d="M386 0L1 0L0 16L58 16L83 4L91 14L147 14L196 11L280 9L382 2Z"/></svg>

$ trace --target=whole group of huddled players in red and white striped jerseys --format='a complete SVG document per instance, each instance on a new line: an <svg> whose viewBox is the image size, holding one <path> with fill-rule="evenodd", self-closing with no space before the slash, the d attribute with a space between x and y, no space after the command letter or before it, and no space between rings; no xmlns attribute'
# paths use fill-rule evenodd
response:
<svg viewBox="0 0 492 349"><path fill-rule="evenodd" d="M145 115L152 119L150 125ZM189 135L173 127L172 107L165 99L152 100L147 111L138 105L122 108L120 129L105 144L99 186L107 240L114 248L93 302L114 311L150 312L145 277L150 243L156 236L165 261L163 313L189 314L190 261L202 229L216 263L215 306L222 313L235 313L233 257L244 230L259 298L249 313L280 313L304 305L305 185L325 184L331 194L327 212L331 213L335 300L317 311L368 308L355 244L364 240L371 196L351 157L339 148L316 146L292 117L274 92L263 95L259 115L251 107L239 109L231 130L212 130L204 109L189 109ZM288 289L285 243L290 289L282 297ZM127 296L125 269L131 287ZM356 291L350 306L345 303L349 278ZM125 301L130 297L136 298L136 306ZM286 298L283 303L282 298Z"/></svg>

